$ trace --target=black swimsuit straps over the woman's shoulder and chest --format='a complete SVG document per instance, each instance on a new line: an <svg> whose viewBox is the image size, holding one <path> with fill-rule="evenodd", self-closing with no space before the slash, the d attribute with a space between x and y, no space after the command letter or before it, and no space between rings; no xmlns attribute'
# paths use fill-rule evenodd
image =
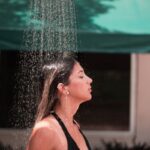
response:
<svg viewBox="0 0 150 150"><path fill-rule="evenodd" d="M64 134L66 136L67 143L68 143L68 150L80 150L79 147L77 146L77 144L75 143L75 141L72 139L71 135L69 134L64 123L59 118L59 116L55 112L52 112L51 114L55 117L55 119L58 121L59 125L61 126L62 130L64 131ZM79 131L82 134L82 136L84 137L84 140L86 142L88 150L91 150L88 140L86 139L86 137L84 136L84 134L82 133L82 131L80 129L79 129Z"/></svg>

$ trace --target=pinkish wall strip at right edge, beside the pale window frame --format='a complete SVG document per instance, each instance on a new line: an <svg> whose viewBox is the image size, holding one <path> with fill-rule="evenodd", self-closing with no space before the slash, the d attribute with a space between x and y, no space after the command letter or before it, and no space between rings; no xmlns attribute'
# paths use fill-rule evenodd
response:
<svg viewBox="0 0 150 150"><path fill-rule="evenodd" d="M150 54L137 56L137 141L150 143Z"/></svg>

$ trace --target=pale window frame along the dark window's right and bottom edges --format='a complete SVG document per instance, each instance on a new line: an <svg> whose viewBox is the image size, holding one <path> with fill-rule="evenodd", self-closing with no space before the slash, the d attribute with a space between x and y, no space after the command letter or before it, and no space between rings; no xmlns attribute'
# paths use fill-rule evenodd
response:
<svg viewBox="0 0 150 150"><path fill-rule="evenodd" d="M90 139L94 137L99 141L101 137L134 137L136 133L136 85L137 85L137 55L130 54L131 70L130 70L130 118L129 118L129 130L127 131L98 131L98 130L84 130L86 136Z"/></svg>

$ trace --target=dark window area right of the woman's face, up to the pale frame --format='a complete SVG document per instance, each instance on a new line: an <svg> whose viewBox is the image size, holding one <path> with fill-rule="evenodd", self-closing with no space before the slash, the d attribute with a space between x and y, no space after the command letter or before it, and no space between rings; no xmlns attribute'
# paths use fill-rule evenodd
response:
<svg viewBox="0 0 150 150"><path fill-rule="evenodd" d="M93 78L93 98L81 105L77 119L87 130L127 131L130 126L130 55L79 54Z"/></svg>

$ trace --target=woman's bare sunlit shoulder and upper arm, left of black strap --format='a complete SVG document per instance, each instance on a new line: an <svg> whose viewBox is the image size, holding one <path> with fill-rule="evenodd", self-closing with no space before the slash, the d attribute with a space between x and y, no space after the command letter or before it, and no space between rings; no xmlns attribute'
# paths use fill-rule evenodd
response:
<svg viewBox="0 0 150 150"><path fill-rule="evenodd" d="M57 130L51 118L35 124L28 143L28 150L50 150L57 145Z"/></svg>

